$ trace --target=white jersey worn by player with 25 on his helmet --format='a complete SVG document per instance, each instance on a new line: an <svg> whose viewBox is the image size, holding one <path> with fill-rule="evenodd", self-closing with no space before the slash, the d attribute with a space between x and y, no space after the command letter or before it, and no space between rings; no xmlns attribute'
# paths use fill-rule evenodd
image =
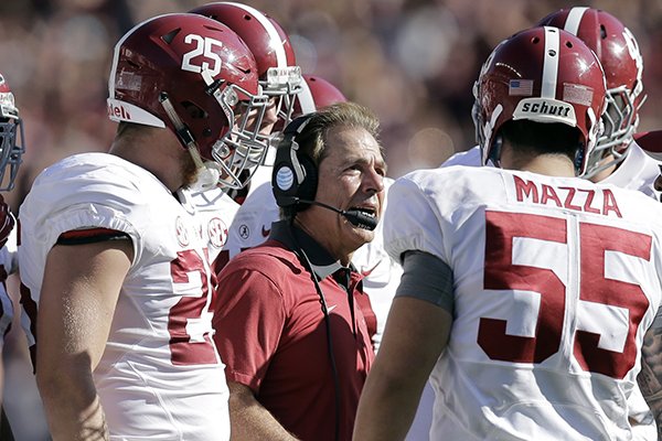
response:
<svg viewBox="0 0 662 441"><path fill-rule="evenodd" d="M227 440L228 390L212 340L217 229L153 176L107 153L42 172L20 211L22 282L39 303L49 250L64 232L126 233L134 261L94 380L110 438ZM38 342L39 344L39 342Z"/></svg>

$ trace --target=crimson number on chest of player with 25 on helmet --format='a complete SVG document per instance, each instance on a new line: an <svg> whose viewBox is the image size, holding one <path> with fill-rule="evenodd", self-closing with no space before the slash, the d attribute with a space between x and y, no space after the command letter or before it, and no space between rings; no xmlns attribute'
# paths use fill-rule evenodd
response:
<svg viewBox="0 0 662 441"><path fill-rule="evenodd" d="M173 365L218 363L210 335L210 295L212 287L216 286L216 275L207 269L203 258L194 249L189 249L179 251L177 259L170 262L175 293L182 294L168 315Z"/></svg>

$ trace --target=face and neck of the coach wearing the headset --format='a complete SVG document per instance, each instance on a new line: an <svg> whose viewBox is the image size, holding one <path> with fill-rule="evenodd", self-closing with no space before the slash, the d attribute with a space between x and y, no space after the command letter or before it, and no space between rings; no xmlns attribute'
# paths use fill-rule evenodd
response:
<svg viewBox="0 0 662 441"><path fill-rule="evenodd" d="M384 202L386 164L375 138L365 129L340 126L327 132L325 157L318 170L316 201L339 209L360 209L378 220ZM341 263L374 237L344 216L312 205L297 223Z"/></svg>

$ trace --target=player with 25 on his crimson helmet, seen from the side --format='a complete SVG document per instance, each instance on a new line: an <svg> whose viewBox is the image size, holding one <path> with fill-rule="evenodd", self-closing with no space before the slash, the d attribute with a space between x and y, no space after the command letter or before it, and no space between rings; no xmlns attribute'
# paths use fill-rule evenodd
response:
<svg viewBox="0 0 662 441"><path fill-rule="evenodd" d="M119 40L108 87L109 152L47 168L20 211L53 439L227 440L210 312L223 237L182 190L241 187L261 157L255 58L217 21L159 15Z"/></svg>

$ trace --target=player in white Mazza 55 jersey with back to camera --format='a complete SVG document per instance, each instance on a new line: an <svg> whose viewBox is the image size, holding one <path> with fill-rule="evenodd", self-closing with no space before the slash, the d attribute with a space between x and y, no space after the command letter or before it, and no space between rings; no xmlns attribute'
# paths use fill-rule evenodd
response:
<svg viewBox="0 0 662 441"><path fill-rule="evenodd" d="M430 439L631 439L662 207L575 178L606 107L600 63L534 28L496 46L476 92L481 162L495 168L392 186L385 243L405 272L354 437L402 439L431 373Z"/></svg>

